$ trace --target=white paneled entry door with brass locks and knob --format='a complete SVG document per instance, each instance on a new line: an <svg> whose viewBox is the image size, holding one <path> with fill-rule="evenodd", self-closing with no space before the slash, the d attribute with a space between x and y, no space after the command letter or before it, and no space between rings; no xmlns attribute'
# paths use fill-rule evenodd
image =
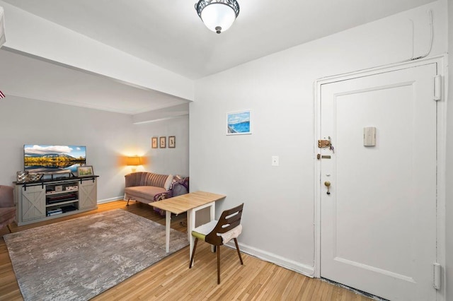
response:
<svg viewBox="0 0 453 301"><path fill-rule="evenodd" d="M321 85L320 138L333 146L320 150L321 277L389 300L436 299L436 70ZM375 146L364 146L365 127Z"/></svg>

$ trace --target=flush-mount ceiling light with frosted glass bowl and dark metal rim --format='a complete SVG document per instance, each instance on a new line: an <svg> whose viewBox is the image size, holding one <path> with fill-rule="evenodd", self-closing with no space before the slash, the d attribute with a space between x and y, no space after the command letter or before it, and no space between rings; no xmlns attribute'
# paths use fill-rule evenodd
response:
<svg viewBox="0 0 453 301"><path fill-rule="evenodd" d="M239 15L236 0L200 0L195 9L206 27L215 33L228 30Z"/></svg>

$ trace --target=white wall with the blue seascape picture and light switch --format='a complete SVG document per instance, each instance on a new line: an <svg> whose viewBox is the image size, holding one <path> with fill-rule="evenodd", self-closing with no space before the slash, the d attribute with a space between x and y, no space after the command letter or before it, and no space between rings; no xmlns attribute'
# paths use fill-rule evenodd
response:
<svg viewBox="0 0 453 301"><path fill-rule="evenodd" d="M244 251L297 271L314 271L314 100L318 78L447 51L447 2L293 47L195 84L190 104L191 191L245 202ZM415 25L415 44L411 19ZM307 29L309 30L309 29ZM226 136L226 112L252 110L253 134ZM280 166L271 166L271 156Z"/></svg>

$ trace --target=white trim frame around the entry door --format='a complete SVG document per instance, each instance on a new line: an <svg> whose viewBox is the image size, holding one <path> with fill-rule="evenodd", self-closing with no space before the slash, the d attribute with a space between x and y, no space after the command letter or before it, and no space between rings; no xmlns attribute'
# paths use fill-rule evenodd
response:
<svg viewBox="0 0 453 301"><path fill-rule="evenodd" d="M442 99L437 102L437 208L436 208L436 241L437 263L442 266L442 283L440 290L437 290L437 301L445 301L445 172L446 172L446 136L447 136L447 83L448 83L448 61L447 54L435 57L408 61L399 64L379 66L377 68L354 71L319 78L313 85L313 114L314 114L314 138L313 138L313 160L314 160L314 277L321 278L321 161L316 158L318 151L318 139L321 139L321 86L338 81L346 81L363 76L372 76L379 73L387 73L401 69L408 69L426 64L437 64L437 74L442 76ZM435 101L435 100L432 100Z"/></svg>

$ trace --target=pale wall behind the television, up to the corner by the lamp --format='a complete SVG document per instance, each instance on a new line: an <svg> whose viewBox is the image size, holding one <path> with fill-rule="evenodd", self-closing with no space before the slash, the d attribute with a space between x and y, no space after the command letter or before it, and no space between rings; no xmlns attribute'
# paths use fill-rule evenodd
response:
<svg viewBox="0 0 453 301"><path fill-rule="evenodd" d="M23 170L24 144L86 146L87 165L98 179L98 199L122 194L119 157L134 146L132 117L8 96L0 101L0 183L11 184Z"/></svg>

